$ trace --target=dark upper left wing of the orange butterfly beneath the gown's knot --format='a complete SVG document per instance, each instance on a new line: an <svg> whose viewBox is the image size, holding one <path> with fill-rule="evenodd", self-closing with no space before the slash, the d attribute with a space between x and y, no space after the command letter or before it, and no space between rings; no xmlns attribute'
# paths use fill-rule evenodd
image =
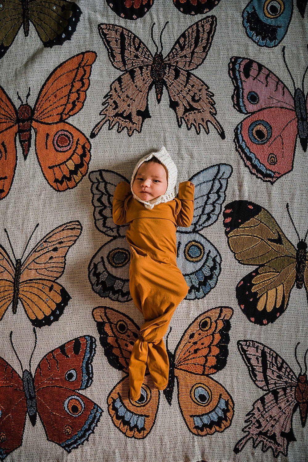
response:
<svg viewBox="0 0 308 462"><path fill-rule="evenodd" d="M109 364L128 373L133 345L139 337L139 326L129 316L107 306L95 308L92 315Z"/></svg>

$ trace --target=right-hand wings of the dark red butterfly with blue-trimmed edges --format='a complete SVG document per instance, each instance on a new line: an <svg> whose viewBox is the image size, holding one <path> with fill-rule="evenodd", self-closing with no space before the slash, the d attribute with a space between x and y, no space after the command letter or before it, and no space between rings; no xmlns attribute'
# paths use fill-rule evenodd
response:
<svg viewBox="0 0 308 462"><path fill-rule="evenodd" d="M103 412L76 392L92 383L95 349L94 337L75 338L48 353L36 369L37 411L47 439L67 452L89 438Z"/></svg>

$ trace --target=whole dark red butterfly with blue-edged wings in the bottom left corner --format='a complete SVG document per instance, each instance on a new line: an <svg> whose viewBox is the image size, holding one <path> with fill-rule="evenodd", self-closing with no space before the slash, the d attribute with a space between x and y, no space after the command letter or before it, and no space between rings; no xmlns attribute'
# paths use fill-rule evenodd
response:
<svg viewBox="0 0 308 462"><path fill-rule="evenodd" d="M12 332L10 338L12 343ZM22 378L0 358L0 460L21 446L27 413L33 426L38 414L48 441L67 452L89 438L103 411L76 390L92 383L95 349L96 340L90 335L70 340L44 356L34 378L34 350L29 371L23 370L18 359Z"/></svg>

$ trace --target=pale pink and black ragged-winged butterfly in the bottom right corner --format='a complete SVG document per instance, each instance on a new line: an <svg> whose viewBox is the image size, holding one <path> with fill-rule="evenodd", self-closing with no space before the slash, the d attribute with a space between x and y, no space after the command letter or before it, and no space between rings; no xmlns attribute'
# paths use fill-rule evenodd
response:
<svg viewBox="0 0 308 462"><path fill-rule="evenodd" d="M298 344L296 345L297 348ZM308 383L305 353L305 372L299 376L275 351L254 340L239 340L237 347L246 363L249 375L261 390L267 393L254 401L246 415L243 428L247 434L235 445L238 454L250 438L254 448L262 443L262 451L272 449L274 457L287 456L290 441L296 441L292 430L292 416L300 410L302 426L307 419ZM296 349L295 349L296 357ZM297 358L296 362L299 365Z"/></svg>

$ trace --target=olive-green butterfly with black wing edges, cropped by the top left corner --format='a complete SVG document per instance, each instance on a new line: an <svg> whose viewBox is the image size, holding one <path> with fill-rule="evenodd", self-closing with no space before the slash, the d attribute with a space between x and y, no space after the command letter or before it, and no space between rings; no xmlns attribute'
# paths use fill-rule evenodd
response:
<svg viewBox="0 0 308 462"><path fill-rule="evenodd" d="M66 0L1 0L0 58L12 45L21 26L27 37L31 22L44 47L51 48L71 39L80 15L79 6Z"/></svg>

